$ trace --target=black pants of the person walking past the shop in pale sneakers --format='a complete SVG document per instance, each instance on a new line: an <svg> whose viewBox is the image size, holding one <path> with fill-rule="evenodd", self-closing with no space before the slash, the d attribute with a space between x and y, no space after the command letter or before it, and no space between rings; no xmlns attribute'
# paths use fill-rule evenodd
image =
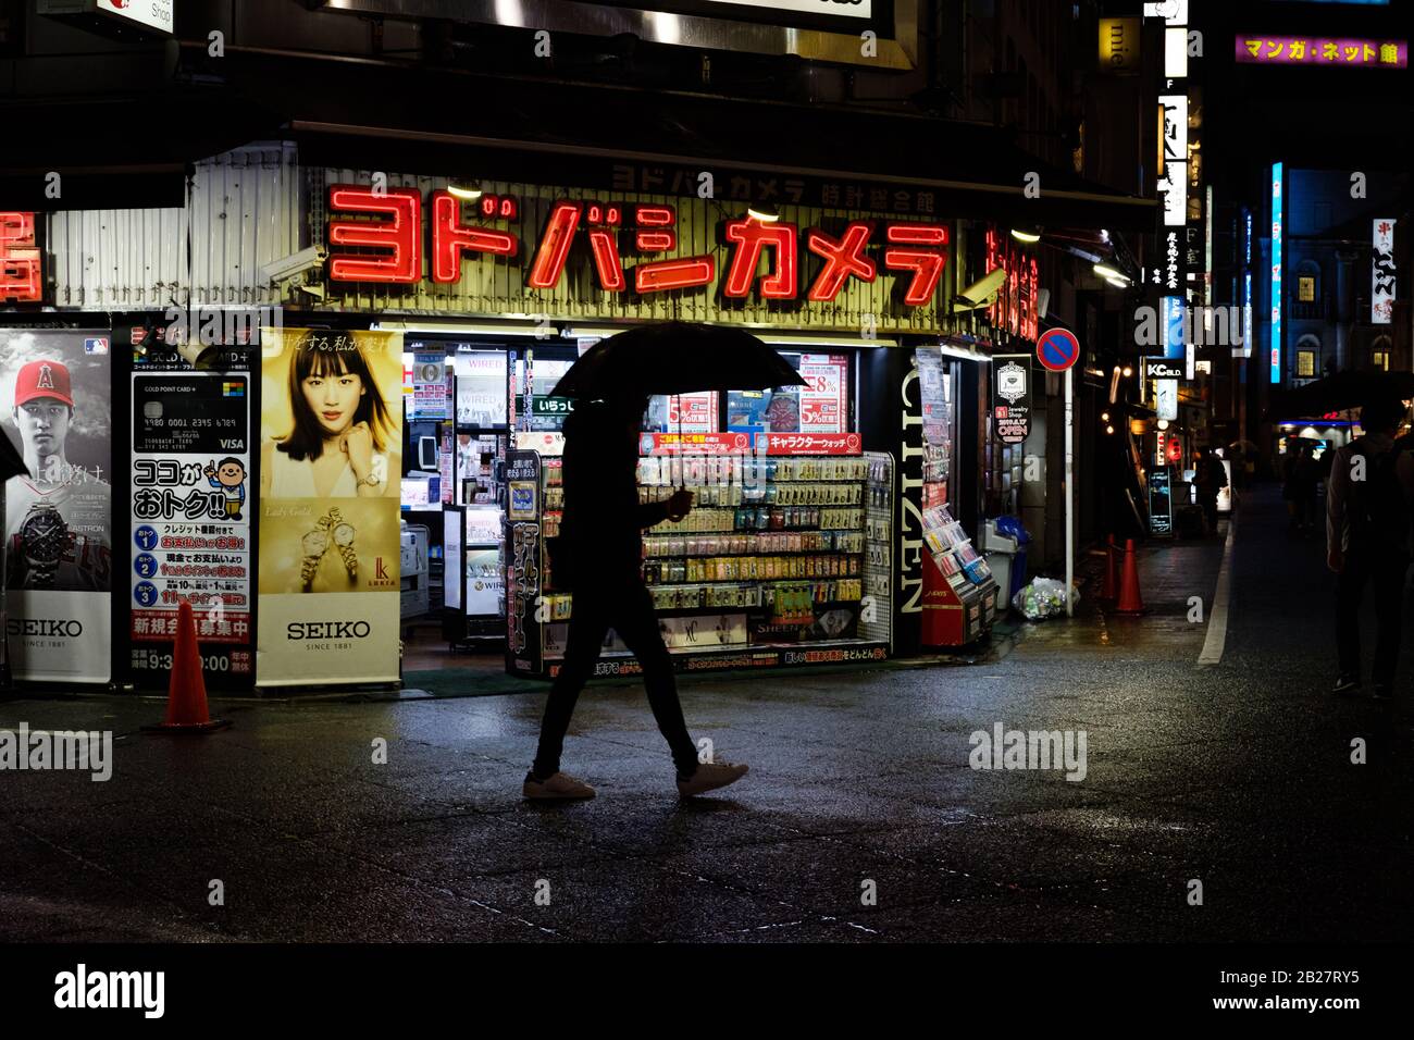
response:
<svg viewBox="0 0 1414 1040"><path fill-rule="evenodd" d="M573 611L564 664L550 685L550 699L544 706L544 720L540 723L540 749L534 757L536 775L546 777L560 768L560 751L564 747L566 730L570 727L570 716L574 715L574 703L594 674L609 628L619 634L643 666L648 703L653 709L659 732L673 751L673 764L679 775L691 775L697 768L697 746L693 744L683 722L673 662L658 631L658 614L653 613L653 597L648 589L636 580L636 576L585 583L574 591Z"/></svg>

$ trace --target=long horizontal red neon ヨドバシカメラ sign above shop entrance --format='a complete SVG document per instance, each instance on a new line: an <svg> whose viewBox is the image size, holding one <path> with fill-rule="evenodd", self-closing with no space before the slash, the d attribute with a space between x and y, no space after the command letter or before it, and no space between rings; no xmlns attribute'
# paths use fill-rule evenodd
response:
<svg viewBox="0 0 1414 1040"><path fill-rule="evenodd" d="M421 198L416 190L375 192L362 185L334 185L329 208L341 214L329 221L332 246L379 250L335 253L331 280L411 284L423 277ZM461 279L468 255L518 256L516 235L489 225L519 216L520 207L509 197L484 195L464 208L452 194L434 191L428 202L427 276L447 284ZM837 236L823 228L805 232L805 252L820 266L803 287L806 258L795 224L728 219L720 225L721 241L713 252L670 256L679 245L676 225L677 209L672 205L557 200L529 252L525 284L532 290L557 289L580 241L587 246L597 286L605 293L628 291L629 282L639 294L704 289L717 280L717 250L723 250L721 293L728 299L755 294L786 301L803 294L810 303L830 303L851 279L875 283L882 267L901 275L902 303L922 307L932 303L947 263L949 233L943 224L885 221L881 228L875 221L851 221ZM875 242L881 229L882 241Z"/></svg>

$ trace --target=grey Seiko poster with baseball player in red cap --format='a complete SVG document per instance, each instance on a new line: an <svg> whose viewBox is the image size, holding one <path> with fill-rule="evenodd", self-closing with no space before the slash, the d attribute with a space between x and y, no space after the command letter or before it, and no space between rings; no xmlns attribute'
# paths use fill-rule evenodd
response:
<svg viewBox="0 0 1414 1040"><path fill-rule="evenodd" d="M4 502L17 679L110 678L110 345L107 330L0 330L6 436L30 471Z"/></svg>

